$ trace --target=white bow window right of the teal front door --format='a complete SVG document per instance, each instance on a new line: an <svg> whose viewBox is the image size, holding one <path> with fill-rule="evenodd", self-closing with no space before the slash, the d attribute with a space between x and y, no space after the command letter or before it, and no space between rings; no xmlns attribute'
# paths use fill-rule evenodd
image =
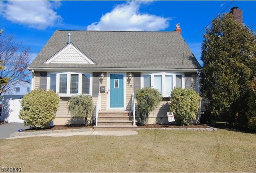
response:
<svg viewBox="0 0 256 173"><path fill-rule="evenodd" d="M184 74L148 73L142 74L142 87L156 88L163 97L169 97L174 87L184 87Z"/></svg>

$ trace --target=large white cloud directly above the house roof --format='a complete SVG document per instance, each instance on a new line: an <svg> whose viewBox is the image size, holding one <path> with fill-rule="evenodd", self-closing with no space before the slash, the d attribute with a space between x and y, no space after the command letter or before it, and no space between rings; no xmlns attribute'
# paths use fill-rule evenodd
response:
<svg viewBox="0 0 256 173"><path fill-rule="evenodd" d="M171 18L142 14L139 8L145 1L132 1L115 8L87 26L87 30L159 31L169 26Z"/></svg>

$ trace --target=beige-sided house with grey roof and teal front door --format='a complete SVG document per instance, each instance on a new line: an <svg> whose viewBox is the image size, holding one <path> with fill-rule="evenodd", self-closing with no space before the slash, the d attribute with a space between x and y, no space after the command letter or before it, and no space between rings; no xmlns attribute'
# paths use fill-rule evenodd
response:
<svg viewBox="0 0 256 173"><path fill-rule="evenodd" d="M182 87L199 92L201 66L176 25L172 32L56 30L29 70L32 89L52 89L62 99L54 125L81 123L68 113L67 101L89 94L95 105L92 121L106 129L135 125L133 93L147 86L163 95L148 123L168 122L170 91ZM122 115L129 118L120 122Z"/></svg>

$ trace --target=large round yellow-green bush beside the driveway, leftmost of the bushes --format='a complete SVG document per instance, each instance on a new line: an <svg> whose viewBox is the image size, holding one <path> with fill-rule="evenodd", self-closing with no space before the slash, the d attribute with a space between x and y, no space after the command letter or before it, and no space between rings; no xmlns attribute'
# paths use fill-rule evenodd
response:
<svg viewBox="0 0 256 173"><path fill-rule="evenodd" d="M56 117L60 97L52 90L35 89L24 95L19 118L25 125L48 128Z"/></svg>

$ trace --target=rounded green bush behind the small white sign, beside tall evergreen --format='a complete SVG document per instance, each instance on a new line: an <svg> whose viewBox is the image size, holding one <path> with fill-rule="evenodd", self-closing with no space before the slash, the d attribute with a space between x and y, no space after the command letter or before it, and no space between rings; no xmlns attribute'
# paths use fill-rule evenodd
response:
<svg viewBox="0 0 256 173"><path fill-rule="evenodd" d="M189 125L196 119L201 97L193 89L175 87L170 96L170 111L173 112L177 125Z"/></svg>

